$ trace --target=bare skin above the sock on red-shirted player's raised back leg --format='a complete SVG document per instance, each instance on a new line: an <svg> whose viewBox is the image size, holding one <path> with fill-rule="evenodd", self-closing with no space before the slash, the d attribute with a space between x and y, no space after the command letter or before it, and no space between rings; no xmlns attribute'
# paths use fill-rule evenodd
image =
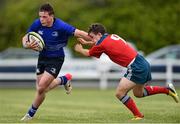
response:
<svg viewBox="0 0 180 124"><path fill-rule="evenodd" d="M142 96L143 96L144 85L145 85L145 84L137 84L137 85L133 88L133 94L134 94L134 96L136 96L136 97L142 97Z"/></svg>

